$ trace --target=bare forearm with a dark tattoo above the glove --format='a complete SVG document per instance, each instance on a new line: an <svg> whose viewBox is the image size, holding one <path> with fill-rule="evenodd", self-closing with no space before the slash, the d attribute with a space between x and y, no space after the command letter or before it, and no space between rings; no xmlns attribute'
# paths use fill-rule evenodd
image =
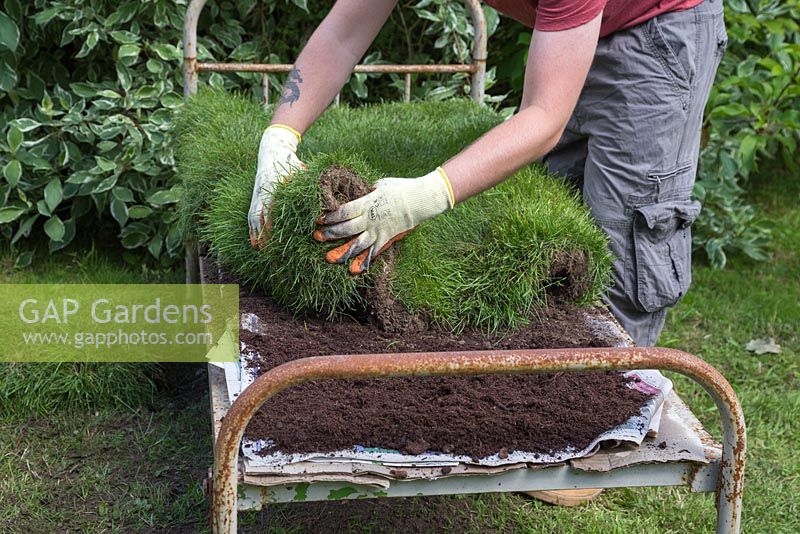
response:
<svg viewBox="0 0 800 534"><path fill-rule="evenodd" d="M341 90L395 3L339 0L295 61L272 123L305 132Z"/></svg>

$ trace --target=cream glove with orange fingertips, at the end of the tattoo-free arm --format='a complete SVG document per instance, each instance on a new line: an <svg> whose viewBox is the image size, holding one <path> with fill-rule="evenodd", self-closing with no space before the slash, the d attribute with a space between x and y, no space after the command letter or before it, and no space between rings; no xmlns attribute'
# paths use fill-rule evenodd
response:
<svg viewBox="0 0 800 534"><path fill-rule="evenodd" d="M450 180L441 167L420 178L383 178L368 195L322 215L314 239L357 236L329 251L325 259L344 263L358 255L350 264L350 273L360 274L392 243L454 204Z"/></svg>

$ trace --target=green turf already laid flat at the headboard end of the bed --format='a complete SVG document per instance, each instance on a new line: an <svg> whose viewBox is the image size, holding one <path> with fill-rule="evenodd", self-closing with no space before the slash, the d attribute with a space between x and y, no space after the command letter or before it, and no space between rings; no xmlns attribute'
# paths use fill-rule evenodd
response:
<svg viewBox="0 0 800 534"><path fill-rule="evenodd" d="M175 117L175 153L184 187L178 205L188 228L229 175L252 180L261 133L271 107L241 95L206 89ZM472 101L389 103L369 108L330 108L303 136L300 158L319 153L351 154L381 174L419 176L500 122ZM380 125L380 127L376 127ZM365 145L365 139L369 141Z"/></svg>

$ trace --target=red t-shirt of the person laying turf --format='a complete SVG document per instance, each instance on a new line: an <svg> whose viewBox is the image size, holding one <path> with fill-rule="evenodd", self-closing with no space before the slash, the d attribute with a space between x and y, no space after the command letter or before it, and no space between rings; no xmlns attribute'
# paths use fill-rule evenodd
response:
<svg viewBox="0 0 800 534"><path fill-rule="evenodd" d="M540 31L569 30L594 19L600 11L600 37L703 0L484 0L499 12Z"/></svg>

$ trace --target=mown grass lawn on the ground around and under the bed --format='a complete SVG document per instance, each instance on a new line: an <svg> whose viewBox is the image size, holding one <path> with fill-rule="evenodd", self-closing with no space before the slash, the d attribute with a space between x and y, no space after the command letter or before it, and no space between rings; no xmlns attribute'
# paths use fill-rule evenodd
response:
<svg viewBox="0 0 800 534"><path fill-rule="evenodd" d="M773 259L734 260L724 271L696 265L693 288L670 314L661 338L662 345L715 365L744 405L744 532L800 531L800 186L788 184L754 193L774 228ZM142 279L97 258L48 262L25 273L0 263L5 283ZM774 337L781 354L744 349L763 337ZM155 398L143 406L0 415L0 531L205 529L199 480L210 465L211 445L202 368L167 366L165 374ZM710 398L673 378L695 414L718 434ZM711 495L684 489L618 489L579 509L518 495L385 499L274 506L241 514L240 523L243 530L274 532L694 532L713 528L714 504Z"/></svg>

